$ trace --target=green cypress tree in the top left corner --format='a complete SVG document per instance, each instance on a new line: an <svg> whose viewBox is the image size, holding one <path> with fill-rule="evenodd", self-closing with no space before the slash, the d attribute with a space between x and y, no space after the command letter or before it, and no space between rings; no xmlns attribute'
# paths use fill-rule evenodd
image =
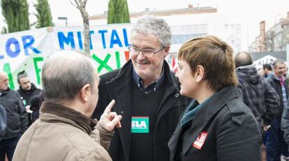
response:
<svg viewBox="0 0 289 161"><path fill-rule="evenodd" d="M30 29L27 0L1 0L1 8L8 33Z"/></svg>

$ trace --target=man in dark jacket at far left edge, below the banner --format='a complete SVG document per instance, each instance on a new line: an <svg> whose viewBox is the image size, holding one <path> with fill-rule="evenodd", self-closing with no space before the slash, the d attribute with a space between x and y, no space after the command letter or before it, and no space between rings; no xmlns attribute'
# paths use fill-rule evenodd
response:
<svg viewBox="0 0 289 161"><path fill-rule="evenodd" d="M8 76L0 72L0 105L6 109L7 128L3 137L0 137L0 160L12 160L18 140L27 129L28 118L20 95L9 89Z"/></svg>

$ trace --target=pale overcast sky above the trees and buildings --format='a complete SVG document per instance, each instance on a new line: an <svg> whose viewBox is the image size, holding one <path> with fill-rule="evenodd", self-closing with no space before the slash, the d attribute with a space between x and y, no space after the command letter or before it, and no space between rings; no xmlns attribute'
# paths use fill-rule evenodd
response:
<svg viewBox="0 0 289 161"><path fill-rule="evenodd" d="M33 15L33 13L35 13L33 3L35 3L36 0L28 1L31 15L30 23L32 23L36 21L36 17ZM65 22L57 20L57 17L68 17L69 26L82 25L79 10L71 5L69 0L48 1L52 11L53 22L57 26L65 25ZM211 6L217 8L218 14L226 16L224 21L249 24L250 34L252 34L250 39L258 35L260 21L266 20L266 29L269 29L274 22L277 22L281 17L286 17L289 11L288 0L128 0L128 9L130 12L135 12L143 11L144 8L150 8L150 10L187 8L188 3L193 4L193 6ZM103 13L105 10L108 10L108 0L87 0L87 11L89 15ZM4 25L3 17L0 17L0 27L2 28Z"/></svg>

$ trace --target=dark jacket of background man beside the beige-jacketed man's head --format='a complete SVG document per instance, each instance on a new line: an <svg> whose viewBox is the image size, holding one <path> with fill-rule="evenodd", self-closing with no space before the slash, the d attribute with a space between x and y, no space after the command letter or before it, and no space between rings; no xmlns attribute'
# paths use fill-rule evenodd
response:
<svg viewBox="0 0 289 161"><path fill-rule="evenodd" d="M21 88L21 86L19 87L19 89L17 90L17 92L20 94L22 101L24 103L24 106L30 105L30 99L34 96L34 95L39 95L41 92L41 89L37 89L36 86L31 83L31 89L26 91L23 90Z"/></svg>

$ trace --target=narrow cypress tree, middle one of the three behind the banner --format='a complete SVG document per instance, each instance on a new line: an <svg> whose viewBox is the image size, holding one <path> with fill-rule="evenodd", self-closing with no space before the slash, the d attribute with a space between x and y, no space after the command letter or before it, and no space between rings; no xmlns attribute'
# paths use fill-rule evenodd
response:
<svg viewBox="0 0 289 161"><path fill-rule="evenodd" d="M37 17L36 28L45 26L54 26L52 22L52 15L50 11L50 5L47 0L37 0L34 4L37 13L34 14Z"/></svg>

